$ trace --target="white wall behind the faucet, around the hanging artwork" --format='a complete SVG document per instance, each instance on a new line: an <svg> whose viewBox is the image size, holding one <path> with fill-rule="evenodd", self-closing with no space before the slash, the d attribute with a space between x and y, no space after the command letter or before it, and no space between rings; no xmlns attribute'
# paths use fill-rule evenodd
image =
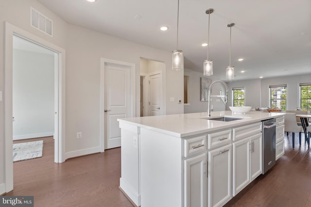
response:
<svg viewBox="0 0 311 207"><path fill-rule="evenodd" d="M202 69L203 70L203 69ZM188 102L189 105L184 106L184 113L195 113L207 111L208 101L201 101L201 77L205 77L202 73L192 71L189 69L184 70L184 75L189 76L189 91ZM209 76L208 78L213 80L219 80L217 76ZM222 94L225 94L225 87L221 83L215 83L213 85L212 95L219 95L219 90L222 89ZM216 102L216 98L212 98L211 104L214 111L225 110L223 102Z"/></svg>

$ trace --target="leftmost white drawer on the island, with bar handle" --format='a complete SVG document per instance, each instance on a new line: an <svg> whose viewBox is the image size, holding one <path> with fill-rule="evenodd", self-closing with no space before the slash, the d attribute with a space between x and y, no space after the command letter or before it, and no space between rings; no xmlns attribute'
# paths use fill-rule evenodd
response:
<svg viewBox="0 0 311 207"><path fill-rule="evenodd" d="M206 135L193 137L185 140L185 153L184 156L188 157L199 152L204 152L207 149Z"/></svg>

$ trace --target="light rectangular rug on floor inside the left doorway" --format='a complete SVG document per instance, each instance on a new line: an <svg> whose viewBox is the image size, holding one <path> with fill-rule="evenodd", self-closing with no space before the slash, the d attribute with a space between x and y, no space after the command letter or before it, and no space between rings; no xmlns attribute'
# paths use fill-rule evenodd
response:
<svg viewBox="0 0 311 207"><path fill-rule="evenodd" d="M42 157L43 140L13 144L13 161Z"/></svg>

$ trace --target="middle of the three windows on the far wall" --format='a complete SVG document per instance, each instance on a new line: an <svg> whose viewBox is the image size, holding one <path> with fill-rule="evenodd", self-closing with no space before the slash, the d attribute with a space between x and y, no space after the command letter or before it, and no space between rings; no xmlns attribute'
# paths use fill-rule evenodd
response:
<svg viewBox="0 0 311 207"><path fill-rule="evenodd" d="M270 85L270 108L286 111L286 85Z"/></svg>

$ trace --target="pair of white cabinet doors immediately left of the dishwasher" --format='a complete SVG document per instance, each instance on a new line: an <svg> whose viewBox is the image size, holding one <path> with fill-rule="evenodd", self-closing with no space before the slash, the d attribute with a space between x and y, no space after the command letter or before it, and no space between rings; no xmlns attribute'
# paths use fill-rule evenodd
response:
<svg viewBox="0 0 311 207"><path fill-rule="evenodd" d="M262 133L232 143L232 195L262 173Z"/></svg>

